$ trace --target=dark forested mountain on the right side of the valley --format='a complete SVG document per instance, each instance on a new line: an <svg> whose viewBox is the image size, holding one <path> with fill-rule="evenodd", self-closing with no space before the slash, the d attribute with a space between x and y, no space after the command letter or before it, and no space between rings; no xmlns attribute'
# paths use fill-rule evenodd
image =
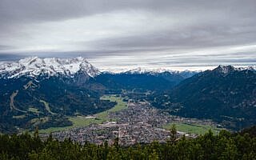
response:
<svg viewBox="0 0 256 160"><path fill-rule="evenodd" d="M153 103L173 114L211 118L233 129L251 126L256 124L256 71L218 66L185 79Z"/></svg>

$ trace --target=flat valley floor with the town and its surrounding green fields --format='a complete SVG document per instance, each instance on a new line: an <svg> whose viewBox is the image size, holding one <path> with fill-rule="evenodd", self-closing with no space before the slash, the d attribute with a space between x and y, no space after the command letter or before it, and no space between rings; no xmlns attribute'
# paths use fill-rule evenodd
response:
<svg viewBox="0 0 256 160"><path fill-rule="evenodd" d="M71 138L76 142L92 142L102 144L108 141L114 143L119 138L121 145L129 146L135 143L166 142L170 138L170 125L175 124L178 135L190 138L213 130L218 134L217 124L210 120L202 121L191 118L172 116L150 106L148 102L134 102L119 95L107 95L102 99L115 101L117 105L110 110L92 116L70 117L73 126L40 130L42 138L50 132L58 140ZM57 131L58 130L58 131Z"/></svg>

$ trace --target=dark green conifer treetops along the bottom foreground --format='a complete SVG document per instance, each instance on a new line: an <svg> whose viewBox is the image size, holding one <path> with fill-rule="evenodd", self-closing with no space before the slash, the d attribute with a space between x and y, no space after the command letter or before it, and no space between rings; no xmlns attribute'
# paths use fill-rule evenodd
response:
<svg viewBox="0 0 256 160"><path fill-rule="evenodd" d="M176 138L172 131L165 144L152 142L125 147L118 144L118 138L112 146L107 143L97 146L81 145L70 139L58 142L51 136L42 141L38 132L34 136L2 134L0 159L256 159L256 138L254 134L232 134L226 130L218 135L209 131L198 138Z"/></svg>

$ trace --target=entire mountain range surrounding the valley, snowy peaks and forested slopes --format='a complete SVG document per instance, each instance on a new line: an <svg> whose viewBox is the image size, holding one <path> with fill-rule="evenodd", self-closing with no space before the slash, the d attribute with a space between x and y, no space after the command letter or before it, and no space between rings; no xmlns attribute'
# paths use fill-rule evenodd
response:
<svg viewBox="0 0 256 160"><path fill-rule="evenodd" d="M116 103L103 94L152 91L153 106L230 128L255 124L255 70L218 66L204 72L127 70L101 72L85 58L37 58L0 62L0 132L69 126L66 116L96 114Z"/></svg>

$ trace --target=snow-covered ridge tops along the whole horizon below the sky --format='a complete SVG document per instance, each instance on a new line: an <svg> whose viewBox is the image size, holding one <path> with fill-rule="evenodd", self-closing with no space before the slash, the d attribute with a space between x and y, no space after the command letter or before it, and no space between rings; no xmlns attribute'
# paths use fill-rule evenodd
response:
<svg viewBox="0 0 256 160"><path fill-rule="evenodd" d="M86 58L38 58L38 57L27 57L22 58L18 62L0 62L0 78L18 78L22 75L30 77L37 77L40 74L46 76L53 75L64 75L72 77L78 72L84 71L90 77L94 78L98 74L198 74L202 70L169 70L165 68L158 69L146 69L142 67L134 68L131 70L123 70L122 72L114 73L111 71L100 71L86 60ZM226 70L256 70L256 66L247 67L234 67L234 66L223 66L219 65L218 70L222 70L223 73ZM190 76L187 76L190 77Z"/></svg>

